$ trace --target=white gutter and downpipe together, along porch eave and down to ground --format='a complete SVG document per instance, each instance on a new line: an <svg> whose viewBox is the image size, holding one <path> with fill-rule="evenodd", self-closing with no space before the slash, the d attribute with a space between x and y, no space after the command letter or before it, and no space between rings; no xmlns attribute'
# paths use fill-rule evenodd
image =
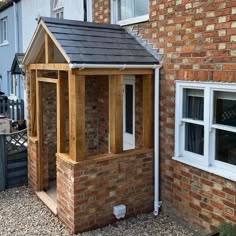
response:
<svg viewBox="0 0 236 236"><path fill-rule="evenodd" d="M159 215L161 201L160 195L160 179L159 179L159 83L161 65L109 65L109 64L69 64L71 69L155 69L155 105L154 105L154 211L155 216Z"/></svg>

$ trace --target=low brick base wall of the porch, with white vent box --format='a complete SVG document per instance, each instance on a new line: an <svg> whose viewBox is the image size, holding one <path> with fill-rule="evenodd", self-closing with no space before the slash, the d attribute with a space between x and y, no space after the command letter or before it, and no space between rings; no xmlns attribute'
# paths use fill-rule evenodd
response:
<svg viewBox="0 0 236 236"><path fill-rule="evenodd" d="M132 170L130 167L132 166ZM73 163L57 159L58 216L82 232L114 222L113 206L127 216L153 209L153 151L143 150Z"/></svg>

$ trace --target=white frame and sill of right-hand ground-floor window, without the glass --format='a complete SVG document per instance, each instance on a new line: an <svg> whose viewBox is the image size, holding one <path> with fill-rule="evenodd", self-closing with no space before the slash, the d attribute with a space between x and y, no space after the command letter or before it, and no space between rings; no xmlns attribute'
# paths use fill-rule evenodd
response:
<svg viewBox="0 0 236 236"><path fill-rule="evenodd" d="M200 89L204 91L203 121L193 121L183 118L184 89ZM175 155L174 160L204 171L236 181L236 166L215 160L215 132L216 129L235 132L232 126L214 124L214 92L236 93L236 83L176 81L175 104ZM184 150L185 133L184 122L201 124L204 126L204 154L198 155Z"/></svg>

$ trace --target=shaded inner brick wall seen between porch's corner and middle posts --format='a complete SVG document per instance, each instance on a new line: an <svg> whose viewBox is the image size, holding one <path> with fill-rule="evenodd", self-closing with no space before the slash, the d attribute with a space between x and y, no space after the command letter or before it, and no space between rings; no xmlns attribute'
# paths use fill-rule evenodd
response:
<svg viewBox="0 0 236 236"><path fill-rule="evenodd" d="M85 117L86 153L108 153L109 137L109 87L108 77L86 78Z"/></svg>

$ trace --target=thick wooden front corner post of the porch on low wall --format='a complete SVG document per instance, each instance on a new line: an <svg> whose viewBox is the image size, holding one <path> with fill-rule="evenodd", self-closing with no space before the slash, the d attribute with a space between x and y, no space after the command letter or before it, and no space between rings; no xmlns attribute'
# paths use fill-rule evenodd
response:
<svg viewBox="0 0 236 236"><path fill-rule="evenodd" d="M85 76L69 74L70 158L85 159Z"/></svg>

